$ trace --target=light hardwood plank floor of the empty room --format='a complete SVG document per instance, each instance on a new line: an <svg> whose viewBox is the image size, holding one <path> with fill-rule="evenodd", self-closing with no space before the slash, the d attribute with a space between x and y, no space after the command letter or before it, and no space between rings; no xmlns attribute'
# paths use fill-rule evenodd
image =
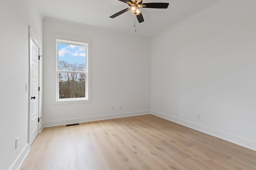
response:
<svg viewBox="0 0 256 170"><path fill-rule="evenodd" d="M256 170L256 151L141 115L44 128L22 169Z"/></svg>

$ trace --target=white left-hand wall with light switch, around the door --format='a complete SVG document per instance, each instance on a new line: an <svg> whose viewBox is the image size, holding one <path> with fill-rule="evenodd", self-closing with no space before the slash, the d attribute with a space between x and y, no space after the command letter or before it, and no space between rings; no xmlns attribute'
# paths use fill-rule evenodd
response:
<svg viewBox="0 0 256 170"><path fill-rule="evenodd" d="M0 1L0 169L17 169L28 151L28 26L42 44L42 18L26 1ZM18 148L15 139L19 137Z"/></svg>

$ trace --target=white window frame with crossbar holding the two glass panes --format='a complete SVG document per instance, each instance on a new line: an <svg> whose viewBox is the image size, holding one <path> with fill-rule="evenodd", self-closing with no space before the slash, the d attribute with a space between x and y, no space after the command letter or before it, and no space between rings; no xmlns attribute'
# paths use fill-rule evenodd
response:
<svg viewBox="0 0 256 170"><path fill-rule="evenodd" d="M90 39L84 41L71 41L66 39L55 39L56 41L56 99L55 104L73 104L73 103L86 103L91 102L91 89L90 89ZM59 55L58 55L58 44L78 45L86 47L86 70L85 71L66 71L58 70L59 68ZM86 74L86 86L85 86L85 97L84 98L59 98L59 73L85 73Z"/></svg>

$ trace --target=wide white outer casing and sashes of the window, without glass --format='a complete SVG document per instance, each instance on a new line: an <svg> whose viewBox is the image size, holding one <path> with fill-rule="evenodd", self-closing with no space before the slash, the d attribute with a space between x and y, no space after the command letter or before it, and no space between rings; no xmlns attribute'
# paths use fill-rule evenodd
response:
<svg viewBox="0 0 256 170"><path fill-rule="evenodd" d="M63 34L54 34L54 40L56 44L56 92L55 92L55 100L54 104L76 104L76 103L88 103L91 102L91 39L86 39L83 37L76 37L72 35L63 35ZM68 40L67 40L68 39ZM87 45L87 56L86 56L86 79L87 79L87 88L86 98L66 98L66 99L58 99L58 43L68 43L73 45ZM61 72L73 72L73 71L61 71Z"/></svg>

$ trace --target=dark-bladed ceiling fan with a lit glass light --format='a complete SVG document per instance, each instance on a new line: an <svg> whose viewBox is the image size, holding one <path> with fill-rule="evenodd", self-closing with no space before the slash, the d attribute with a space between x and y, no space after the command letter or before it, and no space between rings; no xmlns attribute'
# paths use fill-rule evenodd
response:
<svg viewBox="0 0 256 170"><path fill-rule="evenodd" d="M144 21L144 18L141 13L141 8L168 8L169 3L144 3L142 4L142 0L119 0L128 4L130 7L126 8L122 11L117 12L116 14L110 16L110 18L115 18L126 11L130 11L130 13L137 17L139 23Z"/></svg>

